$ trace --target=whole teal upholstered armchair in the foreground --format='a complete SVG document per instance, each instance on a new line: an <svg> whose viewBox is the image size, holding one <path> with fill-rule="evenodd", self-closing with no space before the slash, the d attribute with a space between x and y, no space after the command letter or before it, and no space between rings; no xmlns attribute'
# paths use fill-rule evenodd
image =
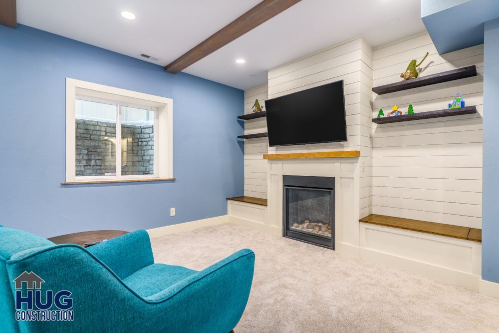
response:
<svg viewBox="0 0 499 333"><path fill-rule="evenodd" d="M144 230L84 249L0 227L2 332L229 333L253 265L249 249L202 271L155 264Z"/></svg>

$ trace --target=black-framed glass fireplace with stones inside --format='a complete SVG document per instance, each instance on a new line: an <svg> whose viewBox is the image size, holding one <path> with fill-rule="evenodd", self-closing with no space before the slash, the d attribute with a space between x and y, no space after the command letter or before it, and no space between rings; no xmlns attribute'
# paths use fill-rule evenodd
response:
<svg viewBox="0 0 499 333"><path fill-rule="evenodd" d="M283 177L283 236L334 250L334 178Z"/></svg>

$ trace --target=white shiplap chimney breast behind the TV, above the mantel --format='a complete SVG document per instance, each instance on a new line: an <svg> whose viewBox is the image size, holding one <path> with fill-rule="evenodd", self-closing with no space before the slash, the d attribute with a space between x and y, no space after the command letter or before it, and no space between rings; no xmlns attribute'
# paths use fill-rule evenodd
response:
<svg viewBox="0 0 499 333"><path fill-rule="evenodd" d="M343 80L346 142L269 147L269 153L360 150L360 217L372 212L372 47L357 37L268 71L268 98Z"/></svg>

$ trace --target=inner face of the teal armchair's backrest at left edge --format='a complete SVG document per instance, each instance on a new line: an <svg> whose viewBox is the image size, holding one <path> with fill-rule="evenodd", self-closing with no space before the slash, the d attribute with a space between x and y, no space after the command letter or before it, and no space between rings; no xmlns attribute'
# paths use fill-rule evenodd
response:
<svg viewBox="0 0 499 333"><path fill-rule="evenodd" d="M4 260L20 251L54 245L43 237L5 227L0 227L0 240L0 256Z"/></svg>

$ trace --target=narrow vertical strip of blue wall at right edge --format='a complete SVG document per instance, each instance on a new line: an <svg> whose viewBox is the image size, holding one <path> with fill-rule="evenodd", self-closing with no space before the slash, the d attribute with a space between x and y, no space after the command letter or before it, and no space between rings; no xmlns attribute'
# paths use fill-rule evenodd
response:
<svg viewBox="0 0 499 333"><path fill-rule="evenodd" d="M482 279L499 283L499 19L485 23Z"/></svg>

